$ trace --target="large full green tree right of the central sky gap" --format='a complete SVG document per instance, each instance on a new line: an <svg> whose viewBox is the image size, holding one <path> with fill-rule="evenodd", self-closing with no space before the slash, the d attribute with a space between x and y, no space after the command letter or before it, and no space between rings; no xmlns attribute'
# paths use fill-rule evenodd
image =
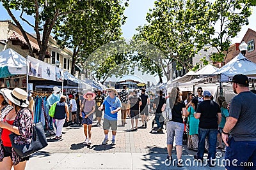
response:
<svg viewBox="0 0 256 170"><path fill-rule="evenodd" d="M210 25L210 4L205 0L156 1L153 10L147 14L147 25L138 27L134 39L148 41L164 55L155 56L157 67L147 67L152 74L160 69L159 76L170 80L170 63L177 62L177 68L191 69L191 59L208 43L214 31ZM177 55L173 55L177 54ZM141 62L147 66L146 62ZM167 68L167 69L166 69Z"/></svg>

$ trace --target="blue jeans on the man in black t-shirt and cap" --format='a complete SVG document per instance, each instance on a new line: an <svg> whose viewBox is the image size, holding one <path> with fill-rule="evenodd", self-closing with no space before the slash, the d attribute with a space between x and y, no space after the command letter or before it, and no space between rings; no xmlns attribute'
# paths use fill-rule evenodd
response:
<svg viewBox="0 0 256 170"><path fill-rule="evenodd" d="M215 159L216 157L216 143L217 143L218 129L203 129L198 128L198 151L197 156L199 159L204 157L205 139L209 141L209 153L207 159Z"/></svg>

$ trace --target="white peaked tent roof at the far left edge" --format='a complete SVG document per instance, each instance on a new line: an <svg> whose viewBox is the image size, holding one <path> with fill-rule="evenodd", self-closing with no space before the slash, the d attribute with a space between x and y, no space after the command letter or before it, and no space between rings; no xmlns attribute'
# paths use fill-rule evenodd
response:
<svg viewBox="0 0 256 170"><path fill-rule="evenodd" d="M0 66L16 66L22 67L27 65L27 60L25 57L15 52L14 50L8 48L3 52L0 52Z"/></svg>

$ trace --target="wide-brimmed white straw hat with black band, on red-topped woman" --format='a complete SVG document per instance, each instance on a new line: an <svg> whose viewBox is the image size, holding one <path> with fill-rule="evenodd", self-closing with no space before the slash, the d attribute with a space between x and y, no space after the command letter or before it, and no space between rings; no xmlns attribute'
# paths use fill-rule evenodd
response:
<svg viewBox="0 0 256 170"><path fill-rule="evenodd" d="M4 94L14 104L17 104L18 106L21 106L23 108L28 107L29 101L28 101L28 93L25 90L22 90L20 88L15 88L13 90L6 89L4 90Z"/></svg>

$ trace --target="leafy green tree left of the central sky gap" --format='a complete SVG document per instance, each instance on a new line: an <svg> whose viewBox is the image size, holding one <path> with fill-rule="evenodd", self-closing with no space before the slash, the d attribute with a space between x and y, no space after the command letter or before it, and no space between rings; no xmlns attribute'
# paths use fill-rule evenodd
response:
<svg viewBox="0 0 256 170"><path fill-rule="evenodd" d="M60 17L54 27L58 44L73 49L72 74L77 62L88 69L90 64L86 59L90 53L109 41L120 39L121 25L126 18L127 2L95 0L84 2L84 6L87 10Z"/></svg>

